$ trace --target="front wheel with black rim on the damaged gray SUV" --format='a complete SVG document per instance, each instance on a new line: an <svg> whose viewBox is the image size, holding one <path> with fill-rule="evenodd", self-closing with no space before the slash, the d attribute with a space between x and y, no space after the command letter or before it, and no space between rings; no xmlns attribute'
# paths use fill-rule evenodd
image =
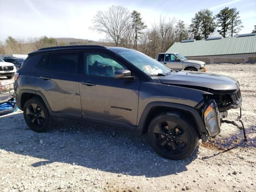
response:
<svg viewBox="0 0 256 192"><path fill-rule="evenodd" d="M198 144L198 131L180 114L162 113L148 127L148 140L157 154L171 160L182 160Z"/></svg>

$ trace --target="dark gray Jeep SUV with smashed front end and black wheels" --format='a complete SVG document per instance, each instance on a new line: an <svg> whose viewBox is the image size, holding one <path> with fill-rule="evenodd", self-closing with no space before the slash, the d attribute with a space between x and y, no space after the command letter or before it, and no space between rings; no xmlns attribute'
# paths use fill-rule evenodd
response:
<svg viewBox="0 0 256 192"><path fill-rule="evenodd" d="M135 50L103 46L42 48L14 76L29 128L80 120L147 133L156 153L188 157L198 139L220 133L226 110L242 102L239 83L202 72L176 72Z"/></svg>

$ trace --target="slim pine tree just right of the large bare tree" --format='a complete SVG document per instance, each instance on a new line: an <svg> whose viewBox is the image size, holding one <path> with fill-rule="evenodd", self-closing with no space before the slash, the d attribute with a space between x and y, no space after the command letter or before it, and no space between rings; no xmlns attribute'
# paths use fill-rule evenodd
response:
<svg viewBox="0 0 256 192"><path fill-rule="evenodd" d="M142 18L140 16L140 13L137 11L133 11L131 14L132 17L132 28L135 31L135 37L134 37L134 49L137 50L137 42L139 38L139 34L143 29L145 29L147 26L142 22Z"/></svg>

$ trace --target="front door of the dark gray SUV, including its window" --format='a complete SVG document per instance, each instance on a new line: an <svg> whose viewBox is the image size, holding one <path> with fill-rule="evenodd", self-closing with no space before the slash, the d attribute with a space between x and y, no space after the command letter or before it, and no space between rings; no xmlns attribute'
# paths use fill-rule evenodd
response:
<svg viewBox="0 0 256 192"><path fill-rule="evenodd" d="M104 52L84 52L79 80L83 120L135 129L140 80L115 79L127 67Z"/></svg>

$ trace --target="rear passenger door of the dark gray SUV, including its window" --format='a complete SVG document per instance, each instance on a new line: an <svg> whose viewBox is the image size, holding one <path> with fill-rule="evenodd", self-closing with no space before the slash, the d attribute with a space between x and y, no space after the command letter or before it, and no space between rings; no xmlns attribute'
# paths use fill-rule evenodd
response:
<svg viewBox="0 0 256 192"><path fill-rule="evenodd" d="M82 119L78 58L79 52L56 52L38 63L36 91L45 96L54 116Z"/></svg>

